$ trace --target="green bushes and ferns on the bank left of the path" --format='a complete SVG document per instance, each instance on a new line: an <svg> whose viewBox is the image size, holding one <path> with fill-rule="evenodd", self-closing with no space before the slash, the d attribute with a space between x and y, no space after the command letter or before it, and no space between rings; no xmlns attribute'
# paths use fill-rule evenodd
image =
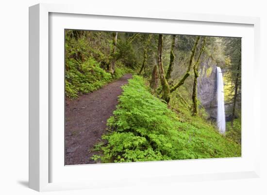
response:
<svg viewBox="0 0 267 195"><path fill-rule="evenodd" d="M107 73L112 36L108 32L65 31L65 92L69 99L98 90L131 70L117 61L113 77ZM100 46L99 46L100 45Z"/></svg>

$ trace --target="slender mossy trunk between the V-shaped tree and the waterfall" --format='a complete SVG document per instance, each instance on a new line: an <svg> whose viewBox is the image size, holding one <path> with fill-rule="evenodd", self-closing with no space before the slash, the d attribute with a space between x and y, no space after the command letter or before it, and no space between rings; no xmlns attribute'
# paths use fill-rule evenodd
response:
<svg viewBox="0 0 267 195"><path fill-rule="evenodd" d="M193 84L193 92L192 92L192 102L193 102L192 115L193 116L198 114L197 86L198 86L198 77L199 77L200 56L204 50L205 44L206 44L206 37L204 37L204 39L203 39L203 44L202 44L202 47L200 49L198 60L193 67L194 68L194 75L195 75L194 84Z"/></svg>

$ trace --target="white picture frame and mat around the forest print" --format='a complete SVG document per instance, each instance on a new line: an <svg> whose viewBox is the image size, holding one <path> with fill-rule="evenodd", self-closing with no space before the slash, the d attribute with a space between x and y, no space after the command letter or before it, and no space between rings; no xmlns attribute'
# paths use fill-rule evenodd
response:
<svg viewBox="0 0 267 195"><path fill-rule="evenodd" d="M64 18L68 17L67 23ZM91 18L91 19L90 19ZM97 21L95 21L97 20ZM91 21L88 24L86 21ZM101 22L112 21L112 26L100 27ZM117 21L117 23L116 23ZM129 23L129 24L127 24ZM166 30L156 30L151 23L166 25ZM86 24L86 25L85 25ZM94 25L93 25L94 24ZM123 24L120 25L119 24ZM150 26L151 24L151 26ZM65 25L65 26L64 26ZM80 26L79 26L80 25ZM88 26L89 25L89 26ZM172 26L171 26L172 25ZM176 30L175 25L184 25L182 30ZM191 25L191 26L190 26ZM209 31L200 28L194 31L194 25L205 26ZM225 180L256 178L260 175L260 118L255 113L260 112L260 82L259 82L259 45L260 45L260 20L257 17L185 14L167 11L135 12L129 10L106 10L82 5L57 5L37 4L29 8L29 186L37 191L54 191L83 188L101 188L110 186L143 185L149 183L171 183L179 181L199 180ZM92 27L94 26L94 28ZM137 26L139 26L137 28ZM145 29L149 26L148 29ZM215 28L212 28L214 26ZM205 159L168 162L145 163L121 163L107 165L75 165L64 166L62 159L62 131L56 134L54 125L62 126L62 109L64 100L55 99L64 94L64 73L60 67L64 66L64 36L65 28L84 30L117 30L117 31L141 31L179 34L203 34L213 36L231 36L243 33L244 43L248 47L242 47L242 95L251 87L246 77L246 72L253 75L257 83L253 87L253 93L242 98L242 157L224 159ZM171 28L172 27L172 28ZM225 30L221 32L220 28ZM216 30L217 28L217 30ZM173 30L173 31L172 31ZM178 33L177 33L178 34ZM54 39L52 39L54 38ZM63 41L63 42L62 42ZM251 48L249 48L251 47ZM63 48L63 49L62 49ZM250 50L246 50L250 49ZM253 53L252 57L243 55L243 52ZM55 53L54 53L55 52ZM56 55L55 55L56 54ZM245 53L246 54L246 53ZM55 58L55 56L57 56ZM57 61L58 60L58 61ZM56 62L60 65L54 65ZM247 62L247 64L246 64ZM250 62L250 63L249 63ZM63 64L62 64L63 63ZM61 73L62 71L62 73ZM244 73L244 74L243 74ZM59 76L57 83L54 75ZM57 87L56 87L57 86ZM63 87L63 88L62 88ZM244 93L243 93L244 90ZM55 92L58 94L55 95ZM59 102L58 102L59 101ZM252 101L250 106L243 109L243 101ZM52 104L53 103L53 104ZM63 105L63 107L62 107ZM52 111L51 111L52 110ZM63 111L64 112L64 111ZM243 116L244 114L244 116ZM59 117L59 122L54 122L53 117ZM245 128L250 127L250 132L243 135L243 121ZM64 119L64 118L63 118ZM247 127L248 126L248 127ZM60 133L61 132L61 133ZM245 136L245 137L244 137ZM63 137L62 137L63 138ZM55 146L54 141L59 146ZM61 141L60 141L61 140ZM243 144L244 140L244 144ZM247 143L247 144L246 144ZM249 148L249 144L251 148ZM252 150L253 149L253 150ZM248 152L247 152L248 151ZM246 153L247 152L247 153ZM243 155L244 154L244 155ZM225 165L225 167L220 167ZM184 166L172 169L168 167ZM186 167L194 167L189 172ZM167 167L167 168L166 168ZM216 168L218 167L218 168ZM230 167L230 168L229 168ZM153 171L157 168L157 171ZM200 170L199 170L200 169ZM137 170L143 170L138 172ZM88 174L90 173L90 174ZM100 173L97 176L96 173ZM79 176L79 180L73 180L73 176ZM117 177L105 177L104 174ZM67 178L67 175L69 178ZM61 176L61 177L60 177ZM92 179L93 178L93 179ZM149 180L148 180L149 179Z"/></svg>

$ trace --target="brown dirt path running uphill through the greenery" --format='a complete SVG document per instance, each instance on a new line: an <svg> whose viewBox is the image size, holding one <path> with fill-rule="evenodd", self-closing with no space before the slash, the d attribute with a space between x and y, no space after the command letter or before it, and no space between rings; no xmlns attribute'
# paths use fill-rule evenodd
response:
<svg viewBox="0 0 267 195"><path fill-rule="evenodd" d="M112 116L121 94L121 86L132 78L126 74L100 90L66 101L65 107L65 165L95 163L91 151L105 133L106 121Z"/></svg>

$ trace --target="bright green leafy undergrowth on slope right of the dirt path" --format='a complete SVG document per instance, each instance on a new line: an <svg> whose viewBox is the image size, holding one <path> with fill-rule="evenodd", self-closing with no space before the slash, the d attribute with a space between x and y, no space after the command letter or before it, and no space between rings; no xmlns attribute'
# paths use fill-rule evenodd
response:
<svg viewBox="0 0 267 195"><path fill-rule="evenodd" d="M239 144L220 135L201 117L192 120L186 101L170 109L135 75L122 87L119 105L107 124L109 133L95 146L102 163L241 156ZM176 94L177 95L177 94ZM183 101L179 101L183 102Z"/></svg>

